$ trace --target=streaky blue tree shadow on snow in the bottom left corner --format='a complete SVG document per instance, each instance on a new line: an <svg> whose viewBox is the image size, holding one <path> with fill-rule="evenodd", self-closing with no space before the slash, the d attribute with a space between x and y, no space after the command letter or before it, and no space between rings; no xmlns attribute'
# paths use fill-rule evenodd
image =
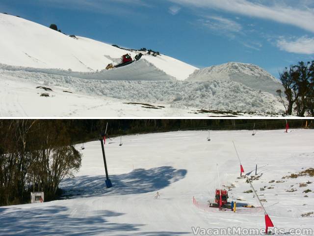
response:
<svg viewBox="0 0 314 236"><path fill-rule="evenodd" d="M62 206L34 208L0 208L0 235L8 236L81 236L81 235L140 235L176 236L184 232L138 232L142 224L110 223L109 217L123 215L99 210L96 216L73 217ZM136 233L138 232L138 233Z"/></svg>

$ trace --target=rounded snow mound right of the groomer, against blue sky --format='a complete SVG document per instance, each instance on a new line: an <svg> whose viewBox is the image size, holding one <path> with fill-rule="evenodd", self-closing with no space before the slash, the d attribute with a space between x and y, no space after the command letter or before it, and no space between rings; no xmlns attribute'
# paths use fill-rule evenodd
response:
<svg viewBox="0 0 314 236"><path fill-rule="evenodd" d="M227 80L239 82L251 89L262 90L276 95L276 90L283 87L267 71L254 64L229 62L196 70L187 81Z"/></svg>

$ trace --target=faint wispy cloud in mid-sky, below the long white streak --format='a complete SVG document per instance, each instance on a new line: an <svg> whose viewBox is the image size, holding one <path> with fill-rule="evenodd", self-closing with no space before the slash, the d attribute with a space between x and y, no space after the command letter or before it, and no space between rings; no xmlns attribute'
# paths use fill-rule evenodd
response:
<svg viewBox="0 0 314 236"><path fill-rule="evenodd" d="M221 16L206 16L205 19L199 21L204 27L219 34L226 34L229 37L235 37L234 34L242 30L240 24Z"/></svg>

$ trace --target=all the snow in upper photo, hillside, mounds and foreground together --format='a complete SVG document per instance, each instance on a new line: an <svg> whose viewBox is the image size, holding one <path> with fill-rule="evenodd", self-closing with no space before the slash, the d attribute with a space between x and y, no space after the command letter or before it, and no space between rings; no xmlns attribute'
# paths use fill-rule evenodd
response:
<svg viewBox="0 0 314 236"><path fill-rule="evenodd" d="M276 89L281 89L280 83L254 65L229 63L210 67L210 70L196 70L196 67L164 55L144 55L129 65L104 70L108 63L119 62L122 55L130 53L134 56L137 52L84 37L69 37L1 13L0 31L4 32L0 37L0 79L1 84L8 85L0 91L2 116L88 116L86 109L78 109L78 104L82 104L82 97L86 95L94 97L99 103L110 100L111 104L115 104L107 104L106 116L129 113L130 109L125 110L125 105L117 105L122 102L165 106L169 109L167 112L150 112L151 115L161 116L178 117L202 109L272 115L283 113L284 106L275 94ZM18 89L17 83L20 83ZM51 94L49 98L38 98L35 88L42 85L53 86L55 88L52 89L56 90L66 88L78 96L64 96L61 90L55 96ZM68 100L60 102L61 97ZM46 106L42 99L46 102L49 99L51 107ZM90 100L87 100L82 107L88 106L90 115L104 115L104 105L90 106ZM14 109L13 105L19 108ZM37 105L40 109L36 109Z"/></svg>

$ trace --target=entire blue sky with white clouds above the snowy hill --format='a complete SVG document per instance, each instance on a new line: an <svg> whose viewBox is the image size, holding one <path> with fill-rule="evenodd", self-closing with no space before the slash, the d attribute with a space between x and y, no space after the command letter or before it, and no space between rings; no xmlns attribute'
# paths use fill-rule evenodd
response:
<svg viewBox="0 0 314 236"><path fill-rule="evenodd" d="M0 12L197 67L253 63L278 77L314 60L314 0L1 0Z"/></svg>

